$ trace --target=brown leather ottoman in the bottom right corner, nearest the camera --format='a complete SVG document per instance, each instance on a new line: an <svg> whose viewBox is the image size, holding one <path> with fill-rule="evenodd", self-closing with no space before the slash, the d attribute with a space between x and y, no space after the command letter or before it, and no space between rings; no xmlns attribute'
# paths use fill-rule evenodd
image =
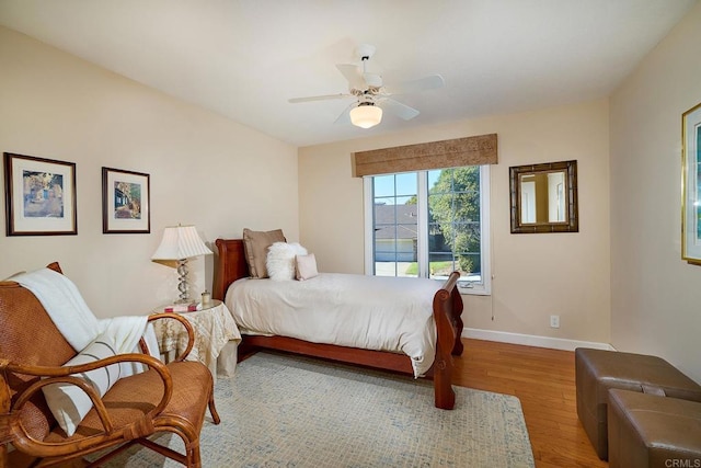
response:
<svg viewBox="0 0 701 468"><path fill-rule="evenodd" d="M609 467L701 467L701 403L609 391Z"/></svg>

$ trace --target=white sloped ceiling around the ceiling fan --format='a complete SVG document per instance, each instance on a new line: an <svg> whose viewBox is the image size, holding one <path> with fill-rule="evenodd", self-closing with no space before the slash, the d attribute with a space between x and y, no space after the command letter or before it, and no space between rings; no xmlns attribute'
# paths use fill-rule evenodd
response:
<svg viewBox="0 0 701 468"><path fill-rule="evenodd" d="M696 0L0 0L0 24L296 146L608 95ZM421 111L361 129L336 64L377 47Z"/></svg>

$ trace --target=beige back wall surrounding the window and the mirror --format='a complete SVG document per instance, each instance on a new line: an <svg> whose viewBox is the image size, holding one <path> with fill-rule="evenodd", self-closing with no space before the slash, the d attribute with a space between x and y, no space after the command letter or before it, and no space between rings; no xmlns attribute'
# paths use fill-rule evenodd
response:
<svg viewBox="0 0 701 468"><path fill-rule="evenodd" d="M496 133L499 163L491 172L493 294L464 296L466 326L608 343L608 112L607 101L597 101L300 148L301 242L315 253L320 270L363 273L363 181L350 176L350 153ZM571 159L578 165L579 232L512 235L509 165ZM560 329L550 328L550 315L561 316Z"/></svg>

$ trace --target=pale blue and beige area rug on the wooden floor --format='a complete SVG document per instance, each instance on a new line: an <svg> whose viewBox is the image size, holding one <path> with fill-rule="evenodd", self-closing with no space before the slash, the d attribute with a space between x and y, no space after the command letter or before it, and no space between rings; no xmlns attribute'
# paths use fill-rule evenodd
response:
<svg viewBox="0 0 701 468"><path fill-rule="evenodd" d="M203 467L532 467L516 397L456 389L433 404L433 384L318 359L260 352L219 378L221 423L207 413ZM157 438L182 452L172 434ZM110 467L180 467L134 447Z"/></svg>

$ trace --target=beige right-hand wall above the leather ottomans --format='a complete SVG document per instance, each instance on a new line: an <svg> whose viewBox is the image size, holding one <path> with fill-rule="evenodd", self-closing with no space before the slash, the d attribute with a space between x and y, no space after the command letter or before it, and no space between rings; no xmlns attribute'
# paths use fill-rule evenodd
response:
<svg viewBox="0 0 701 468"><path fill-rule="evenodd" d="M681 261L681 114L701 102L701 3L611 98L611 343L701 383L701 266Z"/></svg>

